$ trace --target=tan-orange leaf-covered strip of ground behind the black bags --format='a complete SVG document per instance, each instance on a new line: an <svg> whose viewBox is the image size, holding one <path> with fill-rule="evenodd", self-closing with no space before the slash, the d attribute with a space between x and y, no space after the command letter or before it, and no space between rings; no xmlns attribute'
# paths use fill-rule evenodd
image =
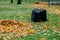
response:
<svg viewBox="0 0 60 40"><path fill-rule="evenodd" d="M54 14L60 15L60 6L48 6L47 2L40 2L39 4L32 4L31 5L33 8L43 8L46 9L47 11L50 11Z"/></svg>

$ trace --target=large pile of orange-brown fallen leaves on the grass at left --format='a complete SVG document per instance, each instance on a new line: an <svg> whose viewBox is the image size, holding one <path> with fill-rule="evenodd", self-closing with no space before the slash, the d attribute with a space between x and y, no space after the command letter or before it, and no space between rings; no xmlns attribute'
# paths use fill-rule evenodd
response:
<svg viewBox="0 0 60 40"><path fill-rule="evenodd" d="M29 23L16 22L15 20L0 20L0 33L16 34L15 36L0 34L0 37L4 35L12 38L19 37L19 35L25 37L27 34L34 33L34 29Z"/></svg>

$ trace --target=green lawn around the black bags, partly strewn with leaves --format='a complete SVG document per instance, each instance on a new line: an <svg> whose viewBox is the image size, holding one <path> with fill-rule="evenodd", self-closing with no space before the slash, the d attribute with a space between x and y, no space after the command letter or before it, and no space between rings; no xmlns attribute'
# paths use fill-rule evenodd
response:
<svg viewBox="0 0 60 40"><path fill-rule="evenodd" d="M28 4L16 5L8 2L0 2L0 20L20 20L31 23L35 33L24 38L11 38L10 40L60 40L60 14L56 15L47 10L47 22L30 22L34 8ZM21 19L19 19L22 16Z"/></svg>

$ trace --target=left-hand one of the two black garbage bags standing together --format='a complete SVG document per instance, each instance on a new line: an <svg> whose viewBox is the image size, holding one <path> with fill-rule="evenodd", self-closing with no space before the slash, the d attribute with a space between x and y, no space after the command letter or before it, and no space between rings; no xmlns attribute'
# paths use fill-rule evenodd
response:
<svg viewBox="0 0 60 40"><path fill-rule="evenodd" d="M32 11L32 16L31 16L31 20L34 22L40 22L41 16L40 16L40 10L35 8Z"/></svg>

